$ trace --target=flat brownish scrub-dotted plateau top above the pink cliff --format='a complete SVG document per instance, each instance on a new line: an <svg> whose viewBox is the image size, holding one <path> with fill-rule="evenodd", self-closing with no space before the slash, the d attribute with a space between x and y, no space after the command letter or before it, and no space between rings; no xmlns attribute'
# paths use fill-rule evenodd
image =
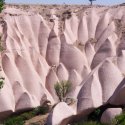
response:
<svg viewBox="0 0 125 125"><path fill-rule="evenodd" d="M67 5L67 4L6 4L5 8L16 8L25 12L33 12L39 13L44 17L44 19L48 20L51 15L56 15L59 19L62 18L66 14L74 13L75 15L79 15L83 11L88 11L92 8L96 9L99 13L107 11L109 9L117 9L117 8L125 8L125 3L114 5L114 6L104 6L104 5Z"/></svg>

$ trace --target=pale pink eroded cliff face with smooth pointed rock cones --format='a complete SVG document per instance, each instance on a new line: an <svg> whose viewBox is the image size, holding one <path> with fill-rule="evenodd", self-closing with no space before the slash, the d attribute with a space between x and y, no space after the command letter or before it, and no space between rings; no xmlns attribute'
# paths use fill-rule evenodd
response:
<svg viewBox="0 0 125 125"><path fill-rule="evenodd" d="M45 96L57 103L54 84L62 80L71 81L69 96L76 105L59 103L50 114L52 125L72 115L84 117L88 115L84 111L89 113L106 103L125 104L124 6L94 7L73 14L65 20L61 34L55 16L48 23L39 14L18 9L3 13L6 23L0 32L6 50L1 54L1 74L5 85L0 90L0 116L37 107ZM58 121L54 119L57 112ZM121 109L107 109L101 120L107 121L110 114L111 120L119 113Z"/></svg>

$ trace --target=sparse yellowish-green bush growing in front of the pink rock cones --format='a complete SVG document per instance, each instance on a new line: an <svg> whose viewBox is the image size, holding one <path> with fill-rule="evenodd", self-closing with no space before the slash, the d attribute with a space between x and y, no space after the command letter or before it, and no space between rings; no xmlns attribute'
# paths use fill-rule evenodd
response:
<svg viewBox="0 0 125 125"><path fill-rule="evenodd" d="M65 101L67 94L70 92L71 83L69 81L57 82L54 85L56 94L60 101Z"/></svg>

